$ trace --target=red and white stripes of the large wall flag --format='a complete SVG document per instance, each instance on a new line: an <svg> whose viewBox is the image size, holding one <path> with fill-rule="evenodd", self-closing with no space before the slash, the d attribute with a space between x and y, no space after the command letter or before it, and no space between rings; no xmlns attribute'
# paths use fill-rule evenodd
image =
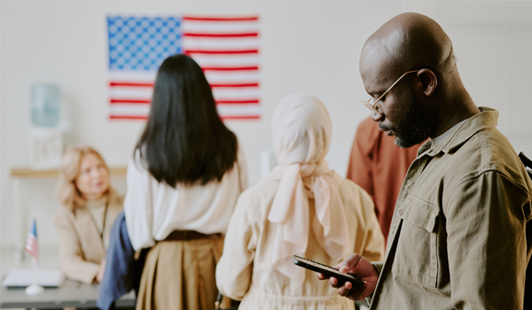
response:
<svg viewBox="0 0 532 310"><path fill-rule="evenodd" d="M203 69L223 119L259 119L259 20L255 17L182 19L182 52ZM155 72L114 72L110 117L145 119Z"/></svg>

